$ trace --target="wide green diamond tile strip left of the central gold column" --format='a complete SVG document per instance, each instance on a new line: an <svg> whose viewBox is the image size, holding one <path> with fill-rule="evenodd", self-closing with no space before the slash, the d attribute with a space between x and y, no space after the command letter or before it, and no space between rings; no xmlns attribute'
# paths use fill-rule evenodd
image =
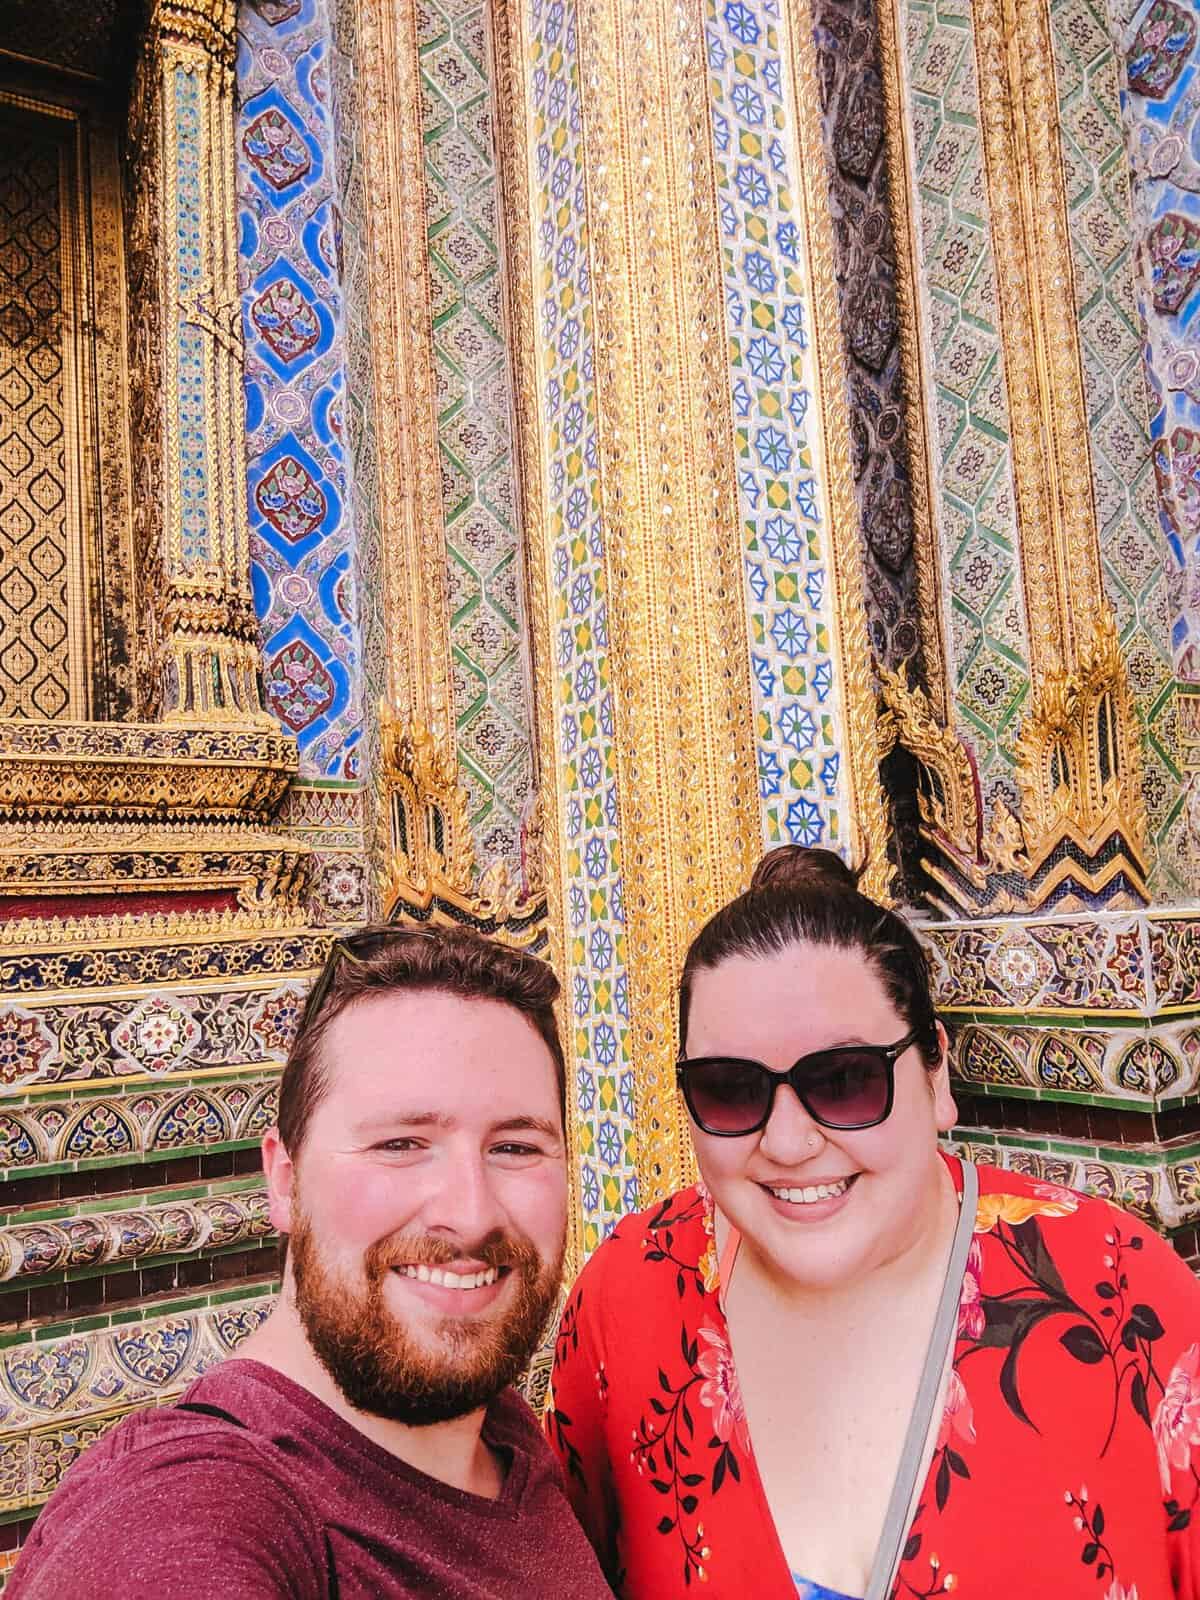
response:
<svg viewBox="0 0 1200 1600"><path fill-rule="evenodd" d="M458 760L480 867L518 875L531 709L485 8L424 0L419 51Z"/></svg>

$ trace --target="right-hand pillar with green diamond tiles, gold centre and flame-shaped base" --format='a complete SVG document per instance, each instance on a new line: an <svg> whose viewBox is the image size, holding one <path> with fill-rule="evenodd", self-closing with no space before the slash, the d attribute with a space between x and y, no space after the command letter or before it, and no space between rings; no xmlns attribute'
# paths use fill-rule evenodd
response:
<svg viewBox="0 0 1200 1600"><path fill-rule="evenodd" d="M883 731L922 768L931 898L958 914L1138 906L1174 872L1126 158L1110 42L1067 13L880 18L915 477L939 486L931 682L885 680Z"/></svg>

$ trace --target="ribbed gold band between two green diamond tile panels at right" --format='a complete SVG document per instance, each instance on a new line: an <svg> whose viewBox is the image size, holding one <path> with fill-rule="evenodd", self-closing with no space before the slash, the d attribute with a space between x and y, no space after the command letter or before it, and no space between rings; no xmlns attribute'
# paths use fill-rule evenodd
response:
<svg viewBox="0 0 1200 1600"><path fill-rule="evenodd" d="M979 0L971 18L1037 685L1075 670L1104 606L1054 51L1045 0Z"/></svg>

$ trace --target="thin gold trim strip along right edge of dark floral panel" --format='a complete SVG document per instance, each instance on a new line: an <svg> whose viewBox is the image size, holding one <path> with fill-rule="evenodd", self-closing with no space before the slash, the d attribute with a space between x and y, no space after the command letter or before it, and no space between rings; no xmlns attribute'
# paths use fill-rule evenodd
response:
<svg viewBox="0 0 1200 1600"><path fill-rule="evenodd" d="M918 619L923 682L931 714L950 720L950 688L944 632L944 586L938 547L938 466L933 442L938 426L933 411L933 378L922 338L922 251L914 213L912 184L917 158L912 147L909 85L904 69L902 0L878 0L880 77L888 152L888 200L891 234L896 245L896 312L899 322L901 370L904 373L904 421L909 438L909 483L912 490L912 555L917 566Z"/></svg>

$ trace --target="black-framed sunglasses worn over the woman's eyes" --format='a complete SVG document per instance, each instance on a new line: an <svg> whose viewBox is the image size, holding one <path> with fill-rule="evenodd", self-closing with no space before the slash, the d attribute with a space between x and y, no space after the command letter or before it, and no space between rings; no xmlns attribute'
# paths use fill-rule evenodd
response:
<svg viewBox="0 0 1200 1600"><path fill-rule="evenodd" d="M891 1115L896 1061L918 1037L898 1045L838 1045L802 1056L787 1072L741 1056L693 1056L675 1062L691 1120L704 1133L736 1139L765 1128L774 1091L787 1083L813 1122L848 1133L875 1128Z"/></svg>

